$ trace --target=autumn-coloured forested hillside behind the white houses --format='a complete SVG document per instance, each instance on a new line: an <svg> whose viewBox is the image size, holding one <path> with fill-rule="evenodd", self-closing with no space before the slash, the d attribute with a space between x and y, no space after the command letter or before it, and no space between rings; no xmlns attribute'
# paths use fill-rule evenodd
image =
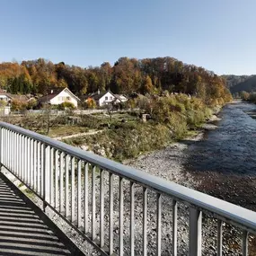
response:
<svg viewBox="0 0 256 256"><path fill-rule="evenodd" d="M113 93L169 93L198 95L211 102L226 102L230 93L225 79L202 67L186 65L172 57L136 59L120 57L110 66L68 66L43 58L0 64L0 86L9 93L46 94L49 87L68 86L77 95L98 89Z"/></svg>

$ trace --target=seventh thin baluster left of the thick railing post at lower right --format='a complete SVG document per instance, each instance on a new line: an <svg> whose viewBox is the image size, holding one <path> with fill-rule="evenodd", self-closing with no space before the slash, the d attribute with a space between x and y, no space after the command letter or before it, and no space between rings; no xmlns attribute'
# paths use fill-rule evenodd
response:
<svg viewBox="0 0 256 256"><path fill-rule="evenodd" d="M100 246L104 246L104 196L105 196L105 190L104 190L104 171L100 170L100 177L101 177L101 183L100 183Z"/></svg>

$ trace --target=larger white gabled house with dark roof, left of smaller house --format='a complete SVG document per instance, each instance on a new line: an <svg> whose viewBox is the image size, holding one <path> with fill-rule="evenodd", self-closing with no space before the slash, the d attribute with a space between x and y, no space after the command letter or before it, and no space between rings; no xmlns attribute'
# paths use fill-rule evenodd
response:
<svg viewBox="0 0 256 256"><path fill-rule="evenodd" d="M49 94L39 99L40 103L49 103L51 105L59 105L63 102L71 102L77 108L80 99L71 93L68 88L52 88Z"/></svg>

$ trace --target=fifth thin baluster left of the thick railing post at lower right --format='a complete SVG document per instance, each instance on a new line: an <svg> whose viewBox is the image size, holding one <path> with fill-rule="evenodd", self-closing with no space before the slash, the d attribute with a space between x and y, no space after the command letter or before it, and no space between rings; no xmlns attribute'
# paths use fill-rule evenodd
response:
<svg viewBox="0 0 256 256"><path fill-rule="evenodd" d="M119 255L124 255L124 181L119 177Z"/></svg>

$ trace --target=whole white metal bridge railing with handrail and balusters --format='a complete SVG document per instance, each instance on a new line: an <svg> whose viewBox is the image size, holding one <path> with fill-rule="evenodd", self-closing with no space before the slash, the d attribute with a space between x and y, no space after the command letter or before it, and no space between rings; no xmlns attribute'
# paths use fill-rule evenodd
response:
<svg viewBox="0 0 256 256"><path fill-rule="evenodd" d="M223 251L224 222L243 230L241 251L248 255L248 234L256 233L256 213L251 210L4 122L0 122L0 141L2 166L102 255L147 255L152 207L156 235L150 243L154 243L152 253L161 255L166 250L162 246L163 197L172 213L168 220L172 255L179 255L180 202L189 206L189 255L202 254L202 213L217 220L216 255ZM141 218L135 217L137 211Z"/></svg>

